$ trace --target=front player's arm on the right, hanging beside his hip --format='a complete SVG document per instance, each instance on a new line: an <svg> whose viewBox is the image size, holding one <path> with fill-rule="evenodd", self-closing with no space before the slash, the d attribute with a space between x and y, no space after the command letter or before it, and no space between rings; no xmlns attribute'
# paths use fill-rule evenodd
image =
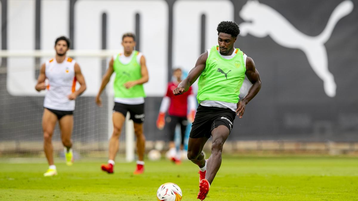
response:
<svg viewBox="0 0 358 201"><path fill-rule="evenodd" d="M241 99L237 103L236 112L237 112L237 116L239 116L239 118L242 118L242 116L243 116L243 114L245 112L246 104L253 97L255 97L255 95L261 89L260 75L258 74L258 71L255 68L255 63L253 63L253 60L250 57L246 58L246 72L245 72L245 75L246 75L247 79L251 82L251 87L248 90L248 92L245 95L245 97L243 97L243 99Z"/></svg>

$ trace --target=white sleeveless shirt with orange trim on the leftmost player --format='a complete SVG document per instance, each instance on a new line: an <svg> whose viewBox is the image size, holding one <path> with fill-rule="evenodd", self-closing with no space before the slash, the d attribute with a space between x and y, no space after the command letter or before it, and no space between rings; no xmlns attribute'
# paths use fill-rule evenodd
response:
<svg viewBox="0 0 358 201"><path fill-rule="evenodd" d="M75 63L72 58L66 58L62 63L57 63L56 59L45 63L45 75L49 81L44 100L45 108L74 111L75 100L69 100L68 95L76 90Z"/></svg>

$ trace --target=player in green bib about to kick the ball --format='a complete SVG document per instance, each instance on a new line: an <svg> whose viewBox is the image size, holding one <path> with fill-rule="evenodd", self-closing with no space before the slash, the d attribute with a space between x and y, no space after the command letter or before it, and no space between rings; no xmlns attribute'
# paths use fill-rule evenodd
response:
<svg viewBox="0 0 358 201"><path fill-rule="evenodd" d="M230 134L236 113L242 118L246 104L261 88L260 75L250 57L234 48L238 25L222 21L217 27L218 46L200 55L195 67L177 88L174 95L189 89L198 79L199 106L195 115L188 143L188 158L199 166L198 199L204 200L221 165L223 144ZM238 95L246 77L252 83L247 95L239 101ZM212 139L211 156L205 160L204 144Z"/></svg>

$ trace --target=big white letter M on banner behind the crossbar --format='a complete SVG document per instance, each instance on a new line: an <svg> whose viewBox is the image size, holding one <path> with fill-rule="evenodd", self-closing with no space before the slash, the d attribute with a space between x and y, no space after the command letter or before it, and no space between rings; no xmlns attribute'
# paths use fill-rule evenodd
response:
<svg viewBox="0 0 358 201"><path fill-rule="evenodd" d="M168 57L168 6L165 1L77 1L74 24L76 49L101 49L103 13L107 14L107 49L113 50L123 49L122 35L135 32L135 15L140 14L140 51L146 58L149 71L145 92L149 96L163 95ZM85 93L96 95L102 79L101 59L78 57L76 60L86 80L91 80ZM107 85L107 92L113 93L111 83Z"/></svg>

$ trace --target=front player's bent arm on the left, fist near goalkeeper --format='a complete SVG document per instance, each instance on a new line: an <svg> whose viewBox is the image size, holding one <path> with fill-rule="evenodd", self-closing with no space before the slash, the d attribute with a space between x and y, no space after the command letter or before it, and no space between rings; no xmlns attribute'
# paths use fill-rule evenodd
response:
<svg viewBox="0 0 358 201"><path fill-rule="evenodd" d="M179 83L178 87L173 90L174 95L180 95L189 90L189 87L198 79L200 74L205 69L206 60L208 59L208 52L201 54L195 63L195 67L190 70L188 77Z"/></svg>

